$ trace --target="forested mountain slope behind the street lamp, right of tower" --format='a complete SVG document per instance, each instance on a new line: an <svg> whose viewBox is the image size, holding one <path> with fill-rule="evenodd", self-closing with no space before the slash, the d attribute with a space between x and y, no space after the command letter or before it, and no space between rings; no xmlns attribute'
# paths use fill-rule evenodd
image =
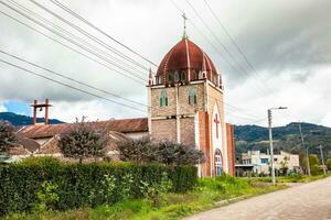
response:
<svg viewBox="0 0 331 220"><path fill-rule="evenodd" d="M320 156L318 146L322 144L324 157L331 157L331 128L312 123L301 123L305 144L309 153ZM257 125L235 125L236 157L249 150L267 152L269 148L268 128ZM285 127L273 128L275 152L287 151L303 154L299 127L290 123Z"/></svg>

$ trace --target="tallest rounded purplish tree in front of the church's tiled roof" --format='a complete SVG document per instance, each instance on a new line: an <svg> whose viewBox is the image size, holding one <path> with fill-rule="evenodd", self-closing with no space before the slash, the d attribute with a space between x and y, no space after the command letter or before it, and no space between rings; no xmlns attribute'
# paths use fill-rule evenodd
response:
<svg viewBox="0 0 331 220"><path fill-rule="evenodd" d="M105 147L108 143L105 130L94 128L92 122L76 121L73 129L61 135L58 146L66 157L83 158L102 157L105 155Z"/></svg>

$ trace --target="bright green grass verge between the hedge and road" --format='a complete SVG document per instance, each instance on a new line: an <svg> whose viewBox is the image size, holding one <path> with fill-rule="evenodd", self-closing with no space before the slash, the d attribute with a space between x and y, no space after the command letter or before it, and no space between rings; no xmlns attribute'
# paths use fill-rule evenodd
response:
<svg viewBox="0 0 331 220"><path fill-rule="evenodd" d="M116 220L177 220L183 217L220 206L217 201L241 196L252 197L278 189L285 185L270 186L263 182L250 182L229 176L200 179L196 188L188 194L168 194L160 207L153 207L146 199L127 200L96 208L82 208L68 211L45 213L20 213L4 217L13 220L74 220L74 219L116 219Z"/></svg>

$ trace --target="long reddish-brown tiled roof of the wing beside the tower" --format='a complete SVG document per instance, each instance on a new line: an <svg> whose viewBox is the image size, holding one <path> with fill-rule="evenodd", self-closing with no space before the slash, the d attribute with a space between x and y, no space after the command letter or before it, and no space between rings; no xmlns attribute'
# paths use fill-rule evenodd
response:
<svg viewBox="0 0 331 220"><path fill-rule="evenodd" d="M121 133L146 132L148 131L147 118L120 119L109 121L88 122L98 129L117 131ZM71 131L75 123L29 125L20 130L20 134L29 139L52 138Z"/></svg>

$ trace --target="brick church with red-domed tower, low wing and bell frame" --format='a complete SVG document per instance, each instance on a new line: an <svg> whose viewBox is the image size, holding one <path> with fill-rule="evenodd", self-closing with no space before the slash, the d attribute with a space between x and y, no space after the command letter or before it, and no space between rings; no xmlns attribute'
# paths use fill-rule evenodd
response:
<svg viewBox="0 0 331 220"><path fill-rule="evenodd" d="M199 176L234 175L234 128L224 119L222 77L209 55L184 34L161 61L156 74L149 73L148 118L92 122L111 136L107 146L110 161L118 160L114 144L120 139L150 135L156 141L174 141L204 152ZM33 125L19 133L38 144L30 154L64 158L57 140L73 123L49 124L49 100L34 108ZM36 109L45 108L45 123L36 123ZM67 158L64 158L67 160Z"/></svg>

